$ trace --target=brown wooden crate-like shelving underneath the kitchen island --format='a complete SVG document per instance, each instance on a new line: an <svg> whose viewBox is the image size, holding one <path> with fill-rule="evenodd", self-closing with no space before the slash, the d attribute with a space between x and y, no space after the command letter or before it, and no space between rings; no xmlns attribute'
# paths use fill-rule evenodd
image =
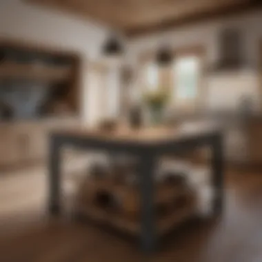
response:
<svg viewBox="0 0 262 262"><path fill-rule="evenodd" d="M104 207L96 202L99 193L106 192L119 205ZM175 201L182 199L179 205ZM100 224L137 235L140 232L140 192L137 186L115 183L111 177L86 179L77 194L75 210ZM196 214L196 194L187 185L157 184L154 205L157 212L157 233L165 234ZM165 212L158 213L163 205Z"/></svg>

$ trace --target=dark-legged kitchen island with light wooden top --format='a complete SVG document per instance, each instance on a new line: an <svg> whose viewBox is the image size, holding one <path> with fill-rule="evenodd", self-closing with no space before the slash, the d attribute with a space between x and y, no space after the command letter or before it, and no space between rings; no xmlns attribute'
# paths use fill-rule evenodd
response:
<svg viewBox="0 0 262 262"><path fill-rule="evenodd" d="M163 155L181 154L197 148L210 147L212 152L212 202L214 216L223 208L223 141L220 130L214 128L117 128L111 131L70 129L50 135L48 208L50 214L61 214L61 148L101 150L108 154L128 154L139 159L138 173L141 197L140 243L145 252L152 252L159 239L154 210L154 177L157 159Z"/></svg>

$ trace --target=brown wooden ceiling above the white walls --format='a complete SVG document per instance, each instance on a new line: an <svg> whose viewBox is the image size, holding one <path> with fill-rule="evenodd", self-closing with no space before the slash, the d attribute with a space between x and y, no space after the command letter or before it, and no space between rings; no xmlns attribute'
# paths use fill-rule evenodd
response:
<svg viewBox="0 0 262 262"><path fill-rule="evenodd" d="M260 0L27 0L92 18L130 36L245 12Z"/></svg>

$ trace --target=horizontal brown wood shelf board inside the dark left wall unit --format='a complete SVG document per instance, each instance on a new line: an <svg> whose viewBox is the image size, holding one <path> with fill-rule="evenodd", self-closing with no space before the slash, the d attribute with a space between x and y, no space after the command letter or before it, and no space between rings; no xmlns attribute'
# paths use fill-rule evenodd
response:
<svg viewBox="0 0 262 262"><path fill-rule="evenodd" d="M29 79L35 81L67 81L71 77L70 66L46 66L26 63L0 63L0 78Z"/></svg>

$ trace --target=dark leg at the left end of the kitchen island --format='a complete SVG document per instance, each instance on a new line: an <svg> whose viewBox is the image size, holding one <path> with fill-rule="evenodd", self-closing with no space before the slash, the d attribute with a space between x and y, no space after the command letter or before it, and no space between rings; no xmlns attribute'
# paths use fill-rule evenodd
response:
<svg viewBox="0 0 262 262"><path fill-rule="evenodd" d="M57 215L61 212L61 156L60 156L60 143L58 143L56 137L50 138L49 148L49 199L48 209L49 213Z"/></svg>

